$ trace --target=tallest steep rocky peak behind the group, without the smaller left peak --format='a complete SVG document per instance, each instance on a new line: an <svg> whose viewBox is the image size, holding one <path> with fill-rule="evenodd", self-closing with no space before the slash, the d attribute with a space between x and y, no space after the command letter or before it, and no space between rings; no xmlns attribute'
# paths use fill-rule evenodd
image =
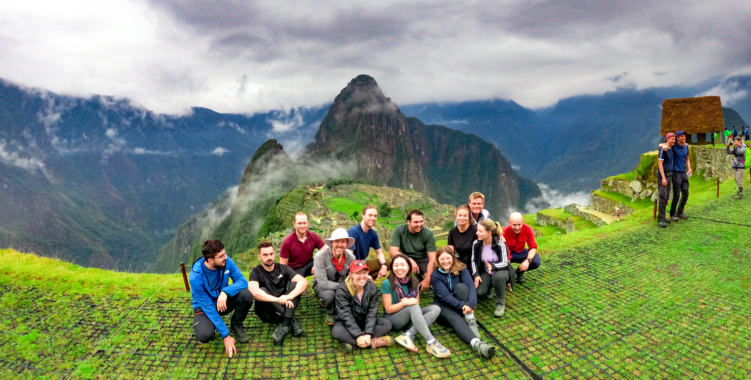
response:
<svg viewBox="0 0 751 380"><path fill-rule="evenodd" d="M352 79L336 96L307 148L350 162L357 179L416 190L438 202L461 205L479 191L495 215L541 195L495 145L407 117L367 75Z"/></svg>

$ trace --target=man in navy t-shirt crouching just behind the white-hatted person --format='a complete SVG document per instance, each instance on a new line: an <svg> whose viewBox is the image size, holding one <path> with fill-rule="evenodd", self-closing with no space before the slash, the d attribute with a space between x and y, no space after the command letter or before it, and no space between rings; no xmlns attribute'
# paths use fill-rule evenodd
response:
<svg viewBox="0 0 751 380"><path fill-rule="evenodd" d="M363 219L360 224L351 226L347 231L347 235L350 238L354 238L354 245L347 251L353 254L355 259L366 261L370 253L370 248L374 249L376 258L369 259L366 262L368 268L373 268L370 271L370 276L373 277L375 274L378 274L376 278L386 277L388 274L388 262L386 262L383 256L378 232L375 232L375 229L373 229L375 222L378 220L378 209L373 205L366 205L360 217Z"/></svg>

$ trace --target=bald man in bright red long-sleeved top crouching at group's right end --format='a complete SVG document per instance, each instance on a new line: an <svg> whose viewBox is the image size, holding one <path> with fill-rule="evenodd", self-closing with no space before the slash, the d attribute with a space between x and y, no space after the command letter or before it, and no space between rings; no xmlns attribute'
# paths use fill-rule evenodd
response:
<svg viewBox="0 0 751 380"><path fill-rule="evenodd" d="M516 271L517 283L524 283L524 272L534 271L540 267L535 232L529 224L524 223L521 214L514 212L508 217L508 226L503 227L503 237L511 252L511 262L519 264Z"/></svg>

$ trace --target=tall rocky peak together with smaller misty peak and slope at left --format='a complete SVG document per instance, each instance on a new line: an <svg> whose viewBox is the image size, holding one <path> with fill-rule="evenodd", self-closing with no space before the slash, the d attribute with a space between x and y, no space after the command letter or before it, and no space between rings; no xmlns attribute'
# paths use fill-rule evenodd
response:
<svg viewBox="0 0 751 380"><path fill-rule="evenodd" d="M258 238L276 232L264 226L285 193L300 184L342 178L413 190L448 205L465 204L470 193L480 191L497 220L541 195L536 184L514 172L495 145L406 117L375 79L360 75L336 97L305 151L292 158L275 139L264 142L253 154L224 220L220 223L216 216L222 213L211 208L193 217L162 248L155 268L198 257L198 244L206 238L222 240L230 253L245 252ZM225 202L214 205L224 209ZM211 229L213 233L207 233Z"/></svg>

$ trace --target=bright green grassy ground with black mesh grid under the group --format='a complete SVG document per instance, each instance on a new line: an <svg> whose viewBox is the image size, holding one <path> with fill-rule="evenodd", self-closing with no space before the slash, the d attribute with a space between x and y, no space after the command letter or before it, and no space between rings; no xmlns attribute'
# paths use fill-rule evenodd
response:
<svg viewBox="0 0 751 380"><path fill-rule="evenodd" d="M3 250L0 378L749 379L751 200L732 193L729 182L719 199L692 193L691 218L667 229L644 208L601 229L540 238L542 265L508 295L506 315L493 317L487 300L476 311L483 336L522 365L503 350L478 358L440 325L433 331L452 350L444 360L400 346L345 355L312 292L298 312L306 334L274 346L273 326L251 313L250 343L226 358L221 340L192 337L179 274Z"/></svg>

